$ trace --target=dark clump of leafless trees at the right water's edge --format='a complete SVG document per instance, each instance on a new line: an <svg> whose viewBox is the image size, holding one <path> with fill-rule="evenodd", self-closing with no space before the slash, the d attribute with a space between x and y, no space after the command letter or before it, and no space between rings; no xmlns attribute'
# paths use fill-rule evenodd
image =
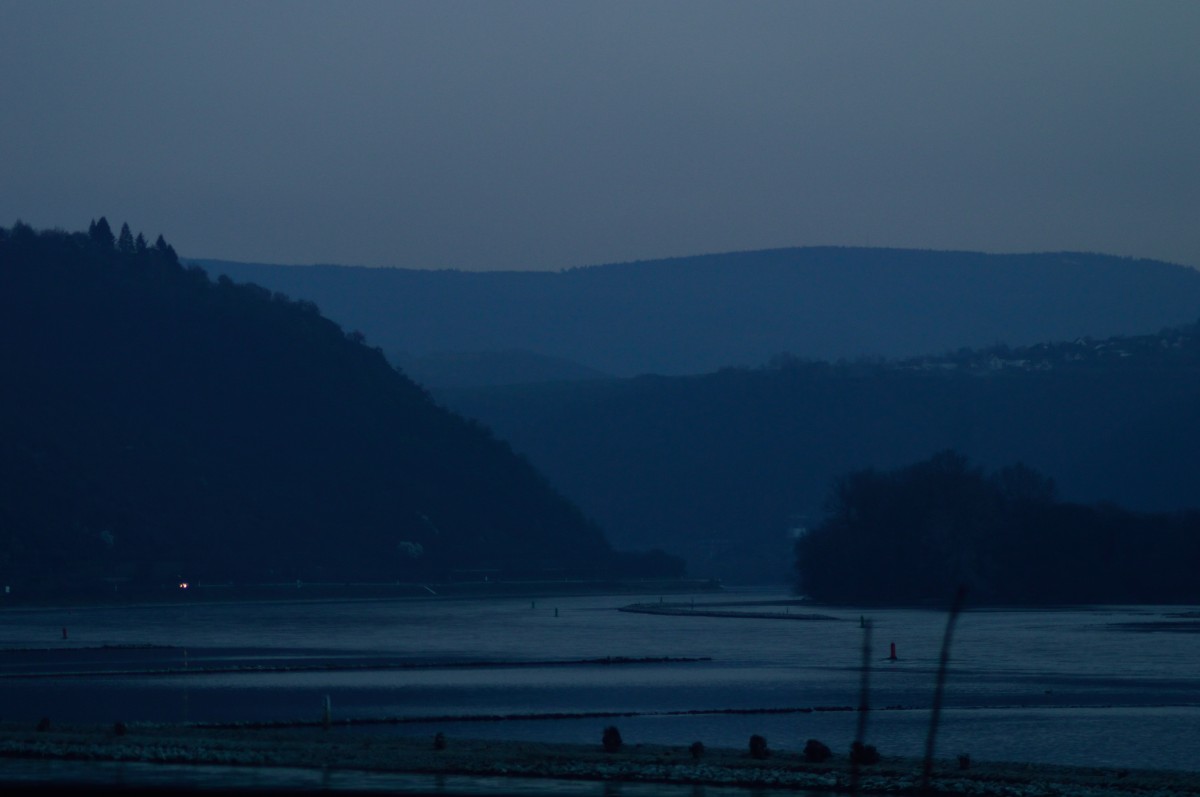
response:
<svg viewBox="0 0 1200 797"><path fill-rule="evenodd" d="M796 543L798 587L823 601L1195 603L1200 511L1060 502L1014 465L985 473L955 451L840 478L828 515Z"/></svg>

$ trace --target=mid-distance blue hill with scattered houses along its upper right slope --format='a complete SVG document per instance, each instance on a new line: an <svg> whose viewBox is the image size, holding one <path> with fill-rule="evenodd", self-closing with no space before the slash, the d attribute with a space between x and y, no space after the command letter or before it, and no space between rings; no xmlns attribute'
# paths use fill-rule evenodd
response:
<svg viewBox="0 0 1200 797"><path fill-rule="evenodd" d="M474 390L439 398L527 454L617 545L780 581L830 485L953 449L1063 501L1200 505L1200 328L949 355Z"/></svg>

